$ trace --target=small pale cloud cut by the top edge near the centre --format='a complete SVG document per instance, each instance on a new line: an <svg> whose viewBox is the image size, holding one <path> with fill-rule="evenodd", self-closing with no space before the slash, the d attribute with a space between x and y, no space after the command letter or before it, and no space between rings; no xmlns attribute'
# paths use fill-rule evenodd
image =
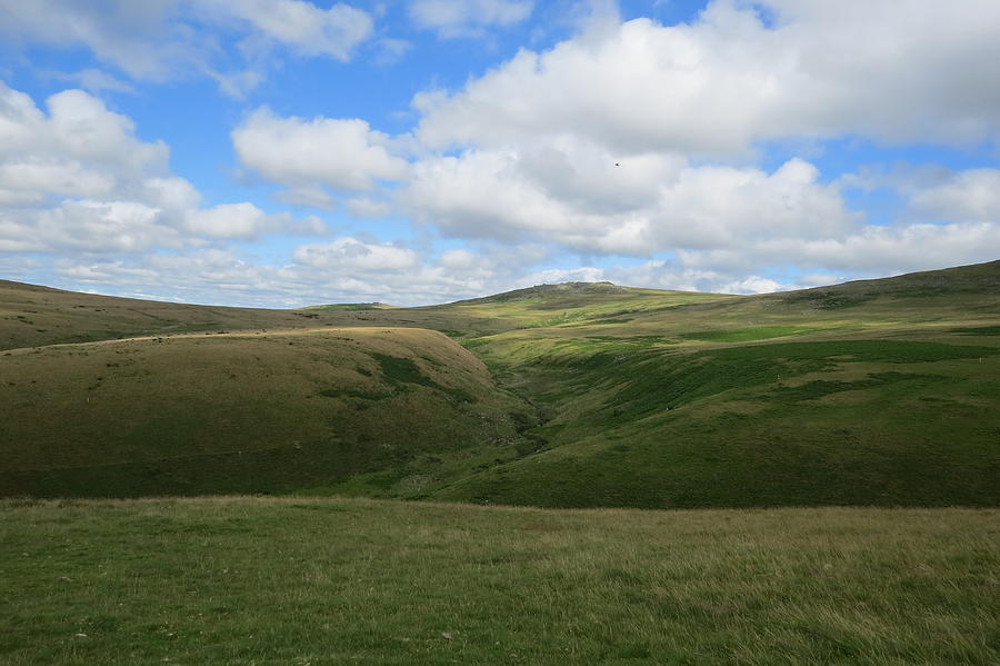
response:
<svg viewBox="0 0 1000 666"><path fill-rule="evenodd" d="M478 37L490 26L511 26L531 14L533 0L412 0L413 22L440 37Z"/></svg>

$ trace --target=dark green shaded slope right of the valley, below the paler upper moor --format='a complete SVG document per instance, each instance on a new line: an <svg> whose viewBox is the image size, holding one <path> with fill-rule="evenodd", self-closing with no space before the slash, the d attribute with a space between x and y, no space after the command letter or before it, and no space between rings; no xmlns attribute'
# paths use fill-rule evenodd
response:
<svg viewBox="0 0 1000 666"><path fill-rule="evenodd" d="M550 507L1000 505L996 346L521 339L527 360L509 342L487 359L541 406L548 420L530 434L547 446L433 497Z"/></svg>

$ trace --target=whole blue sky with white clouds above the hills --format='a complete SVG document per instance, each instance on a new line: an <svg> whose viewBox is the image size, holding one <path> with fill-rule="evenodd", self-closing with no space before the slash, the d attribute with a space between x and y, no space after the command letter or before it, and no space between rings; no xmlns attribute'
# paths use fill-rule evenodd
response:
<svg viewBox="0 0 1000 666"><path fill-rule="evenodd" d="M0 0L0 278L232 306L1000 258L997 0Z"/></svg>

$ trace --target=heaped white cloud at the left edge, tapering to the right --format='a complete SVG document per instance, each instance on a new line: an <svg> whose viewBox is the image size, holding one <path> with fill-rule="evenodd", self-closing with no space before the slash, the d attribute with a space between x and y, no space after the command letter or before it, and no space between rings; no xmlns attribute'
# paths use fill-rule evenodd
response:
<svg viewBox="0 0 1000 666"><path fill-rule="evenodd" d="M322 230L248 202L201 208L168 157L82 90L53 95L42 110L0 82L0 251L144 252Z"/></svg>

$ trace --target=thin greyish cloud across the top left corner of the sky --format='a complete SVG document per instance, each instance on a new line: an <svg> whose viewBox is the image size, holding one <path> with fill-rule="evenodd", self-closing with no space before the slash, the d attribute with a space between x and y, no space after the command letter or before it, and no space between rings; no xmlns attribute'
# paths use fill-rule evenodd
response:
<svg viewBox="0 0 1000 666"><path fill-rule="evenodd" d="M253 68L274 46L346 61L373 33L363 10L302 0L0 0L0 36L10 44L84 47L133 80L209 76L236 96L260 81ZM242 36L239 48L227 51L220 30ZM218 61L240 58L250 69L218 71ZM81 76L84 87L122 88L107 76Z"/></svg>

